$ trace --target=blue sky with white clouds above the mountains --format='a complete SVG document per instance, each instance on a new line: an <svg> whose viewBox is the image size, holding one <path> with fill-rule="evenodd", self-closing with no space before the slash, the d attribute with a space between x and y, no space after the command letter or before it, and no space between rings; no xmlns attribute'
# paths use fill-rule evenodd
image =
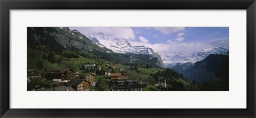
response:
<svg viewBox="0 0 256 118"><path fill-rule="evenodd" d="M155 52L189 54L206 48L228 47L228 27L71 27L85 36L104 32L129 40L132 46L145 45Z"/></svg>

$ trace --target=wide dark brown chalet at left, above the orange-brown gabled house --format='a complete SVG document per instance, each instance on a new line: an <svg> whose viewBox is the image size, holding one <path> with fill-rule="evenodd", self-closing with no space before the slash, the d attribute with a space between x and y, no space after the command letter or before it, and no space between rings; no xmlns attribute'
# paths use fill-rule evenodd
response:
<svg viewBox="0 0 256 118"><path fill-rule="evenodd" d="M45 78L58 82L68 82L74 78L75 73L72 69L45 69L45 71Z"/></svg>

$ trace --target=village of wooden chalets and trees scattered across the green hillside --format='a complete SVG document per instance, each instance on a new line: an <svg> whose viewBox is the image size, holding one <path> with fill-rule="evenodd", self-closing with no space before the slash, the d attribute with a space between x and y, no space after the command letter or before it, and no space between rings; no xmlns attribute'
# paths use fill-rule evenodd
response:
<svg viewBox="0 0 256 118"><path fill-rule="evenodd" d="M78 65L78 68L82 68ZM115 64L104 70L104 75L97 75L102 71L101 65L84 63L84 73L75 72L71 68L45 68L40 72L36 69L27 71L28 91L142 91L148 86L155 86L158 91L167 90L166 79L157 76L152 85L149 77L132 78L130 71L117 68ZM100 77L97 79L97 76ZM132 79L131 79L132 78ZM33 81L33 82L31 82ZM106 89L101 89L105 86Z"/></svg>

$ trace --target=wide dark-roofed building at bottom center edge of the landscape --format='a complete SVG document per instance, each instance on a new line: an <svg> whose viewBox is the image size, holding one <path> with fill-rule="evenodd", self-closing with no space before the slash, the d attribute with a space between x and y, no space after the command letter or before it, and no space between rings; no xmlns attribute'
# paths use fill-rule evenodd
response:
<svg viewBox="0 0 256 118"><path fill-rule="evenodd" d="M110 91L142 91L143 86L131 79L113 80L109 82Z"/></svg>

